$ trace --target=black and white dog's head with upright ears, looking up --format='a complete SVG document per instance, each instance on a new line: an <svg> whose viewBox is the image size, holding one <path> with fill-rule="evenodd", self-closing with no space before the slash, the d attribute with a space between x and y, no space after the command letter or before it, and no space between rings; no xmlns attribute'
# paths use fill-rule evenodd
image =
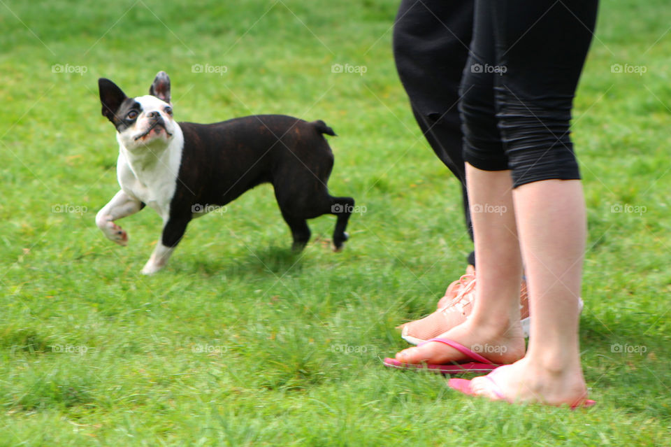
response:
<svg viewBox="0 0 671 447"><path fill-rule="evenodd" d="M173 119L170 78L159 71L149 94L129 98L115 83L98 80L103 116L117 128L117 139L127 150L168 146L178 125Z"/></svg>

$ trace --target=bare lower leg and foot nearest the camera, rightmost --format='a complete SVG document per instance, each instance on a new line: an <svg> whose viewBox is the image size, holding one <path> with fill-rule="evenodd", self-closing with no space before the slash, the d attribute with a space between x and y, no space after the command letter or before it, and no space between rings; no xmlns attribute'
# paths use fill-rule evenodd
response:
<svg viewBox="0 0 671 447"><path fill-rule="evenodd" d="M528 352L497 371L496 390L486 378L473 379L471 388L510 402L575 404L586 396L577 306L586 239L582 183L528 183L513 197L531 300Z"/></svg>

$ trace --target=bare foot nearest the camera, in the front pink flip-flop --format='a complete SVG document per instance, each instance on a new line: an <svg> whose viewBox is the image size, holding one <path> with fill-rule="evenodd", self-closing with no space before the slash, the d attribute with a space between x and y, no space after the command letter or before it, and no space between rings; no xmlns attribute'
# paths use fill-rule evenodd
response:
<svg viewBox="0 0 671 447"><path fill-rule="evenodd" d="M472 379L470 390L492 400L551 406L577 406L587 397L579 363L563 369L549 369L534 364L527 357L497 368L489 377Z"/></svg>

